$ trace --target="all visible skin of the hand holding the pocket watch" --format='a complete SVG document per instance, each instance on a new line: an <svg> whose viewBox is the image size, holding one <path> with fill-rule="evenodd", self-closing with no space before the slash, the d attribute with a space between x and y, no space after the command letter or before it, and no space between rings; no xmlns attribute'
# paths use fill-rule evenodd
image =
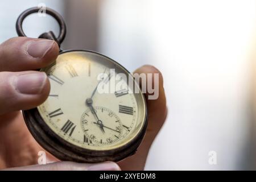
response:
<svg viewBox="0 0 256 182"><path fill-rule="evenodd" d="M138 68L137 73L159 73L159 98L147 100L148 127L146 136L135 155L118 162L98 164L80 164L73 162L58 162L51 154L47 159L51 164L38 164L38 152L43 150L29 133L20 110L31 109L46 100L50 85L48 78L41 81L40 88L29 94L20 93L15 87L15 79L20 75L37 73L35 71L51 64L59 54L59 47L55 42L35 46L43 39L12 38L0 45L0 169L9 170L143 170L147 154L156 135L159 133L167 115L166 97L163 89L163 77L158 69L151 65ZM34 51L36 50L36 52ZM34 52L33 52L34 51ZM42 56L40 56L40 53ZM39 55L39 56L38 56ZM154 79L152 79L154 80ZM31 94L32 93L32 94ZM35 166L31 166L35 165Z"/></svg>

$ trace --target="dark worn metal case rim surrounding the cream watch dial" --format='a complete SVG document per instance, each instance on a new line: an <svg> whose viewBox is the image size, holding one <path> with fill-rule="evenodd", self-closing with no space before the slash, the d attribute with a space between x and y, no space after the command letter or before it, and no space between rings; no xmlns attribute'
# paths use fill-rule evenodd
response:
<svg viewBox="0 0 256 182"><path fill-rule="evenodd" d="M102 55L96 51L84 50L84 49L73 49L61 51L59 55L67 52L73 51L82 51L82 52L91 52L98 55L104 56L107 59L114 62L114 64L119 65L121 68L125 69L127 73L130 73L125 67L117 63L117 61L111 59L108 56ZM141 90L141 88L139 88ZM87 163L97 163L104 162L106 160L111 160L117 162L119 160L125 159L126 157L135 154L135 151L141 144L143 137L146 133L147 123L148 123L148 114L147 114L147 101L143 93L143 101L145 104L145 115L143 126L137 134L136 137L130 140L129 143L115 148L112 150L90 150L71 144L59 137L51 128L43 121L43 118L40 116L37 107L30 110L22 110L24 121L28 127L28 130L35 138L36 142L40 144L45 150L50 154L55 156L60 160L71 160L74 162L87 162ZM41 134L41 135L40 135Z"/></svg>

